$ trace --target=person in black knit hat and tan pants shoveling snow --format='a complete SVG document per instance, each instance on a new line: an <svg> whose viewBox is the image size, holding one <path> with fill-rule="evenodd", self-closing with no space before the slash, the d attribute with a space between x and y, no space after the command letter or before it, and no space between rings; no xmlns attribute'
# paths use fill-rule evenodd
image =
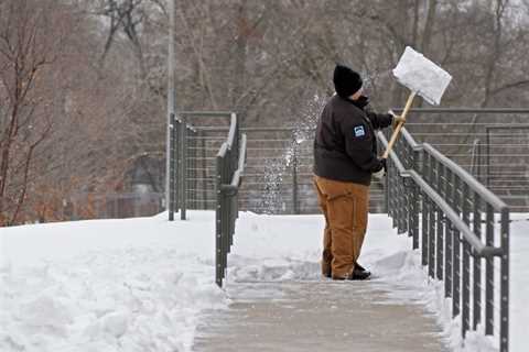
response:
<svg viewBox="0 0 529 352"><path fill-rule="evenodd" d="M365 279L357 264L367 229L369 184L381 178L386 160L377 156L375 130L400 121L366 109L360 75L347 66L334 69L334 95L317 122L314 184L325 216L322 274L333 279Z"/></svg>

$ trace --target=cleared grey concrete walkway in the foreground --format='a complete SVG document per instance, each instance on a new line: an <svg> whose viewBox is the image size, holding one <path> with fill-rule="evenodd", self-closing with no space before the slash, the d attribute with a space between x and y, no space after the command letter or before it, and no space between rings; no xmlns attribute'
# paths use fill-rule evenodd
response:
<svg viewBox="0 0 529 352"><path fill-rule="evenodd" d="M376 279L227 286L230 308L206 317L193 351L450 351L421 304Z"/></svg>

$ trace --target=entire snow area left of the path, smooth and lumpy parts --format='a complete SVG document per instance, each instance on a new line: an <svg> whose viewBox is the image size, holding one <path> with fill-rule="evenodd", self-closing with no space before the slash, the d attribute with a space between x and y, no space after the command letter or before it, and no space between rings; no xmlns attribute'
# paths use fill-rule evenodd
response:
<svg viewBox="0 0 529 352"><path fill-rule="evenodd" d="M192 217L2 230L0 351L190 351L226 307L213 216Z"/></svg>

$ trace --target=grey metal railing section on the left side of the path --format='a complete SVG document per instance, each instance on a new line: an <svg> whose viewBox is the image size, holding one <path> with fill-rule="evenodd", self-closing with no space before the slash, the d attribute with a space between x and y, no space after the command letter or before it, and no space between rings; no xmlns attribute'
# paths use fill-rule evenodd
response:
<svg viewBox="0 0 529 352"><path fill-rule="evenodd" d="M185 220L187 209L215 209L215 282L222 286L239 215L247 138L234 112L184 111L170 118L169 220L175 211Z"/></svg>

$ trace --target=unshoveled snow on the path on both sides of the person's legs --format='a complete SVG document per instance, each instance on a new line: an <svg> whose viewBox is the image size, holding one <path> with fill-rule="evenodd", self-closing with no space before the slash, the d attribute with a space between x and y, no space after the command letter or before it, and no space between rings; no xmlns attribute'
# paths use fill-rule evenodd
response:
<svg viewBox="0 0 529 352"><path fill-rule="evenodd" d="M228 280L321 279L323 221L323 216L245 213L228 260ZM395 234L387 216L369 216L360 264L369 266L377 277L409 275L410 267L417 272L414 264L403 266L412 254L408 238ZM412 274L417 276L415 272Z"/></svg>

